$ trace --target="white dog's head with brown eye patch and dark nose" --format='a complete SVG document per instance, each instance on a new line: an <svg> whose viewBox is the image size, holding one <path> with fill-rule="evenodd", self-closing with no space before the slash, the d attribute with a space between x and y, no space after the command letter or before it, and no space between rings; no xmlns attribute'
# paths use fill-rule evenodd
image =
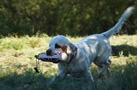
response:
<svg viewBox="0 0 137 90"><path fill-rule="evenodd" d="M50 40L46 53L48 56L52 56L56 52L66 53L67 55L74 55L76 50L76 46L65 36L57 35Z"/></svg>

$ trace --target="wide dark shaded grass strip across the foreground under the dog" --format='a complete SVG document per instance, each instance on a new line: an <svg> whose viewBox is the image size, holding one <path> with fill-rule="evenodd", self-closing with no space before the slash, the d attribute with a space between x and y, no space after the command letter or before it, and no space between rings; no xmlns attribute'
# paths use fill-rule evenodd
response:
<svg viewBox="0 0 137 90"><path fill-rule="evenodd" d="M104 76L95 82L86 83L83 78L68 76L63 81L49 84L51 72L35 73L34 70L17 74L0 73L0 90L135 90L137 89L137 61L126 66L112 66L111 76ZM94 70L91 70L94 71Z"/></svg>

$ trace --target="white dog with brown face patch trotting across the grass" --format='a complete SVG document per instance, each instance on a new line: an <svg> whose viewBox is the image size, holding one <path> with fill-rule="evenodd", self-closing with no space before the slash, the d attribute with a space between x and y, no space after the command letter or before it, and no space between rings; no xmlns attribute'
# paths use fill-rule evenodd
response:
<svg viewBox="0 0 137 90"><path fill-rule="evenodd" d="M56 51L67 54L67 59L64 62L58 63L59 72L52 79L64 79L67 74L82 75L87 80L94 81L90 72L90 64L94 62L97 66L101 67L98 77L106 72L111 61L111 46L109 37L119 32L124 22L133 13L134 7L129 7L125 10L118 23L110 30L88 36L81 41L72 43L65 36L54 36L49 43L49 48L46 51L47 55L53 55Z"/></svg>

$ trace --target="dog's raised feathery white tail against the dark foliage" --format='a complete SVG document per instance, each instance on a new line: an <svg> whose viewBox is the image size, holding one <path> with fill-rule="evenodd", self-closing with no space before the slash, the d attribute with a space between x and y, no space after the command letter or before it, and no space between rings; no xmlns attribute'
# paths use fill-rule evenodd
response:
<svg viewBox="0 0 137 90"><path fill-rule="evenodd" d="M109 38L110 36L112 36L115 33L118 33L121 29L121 27L123 26L124 22L128 19L128 17L133 13L134 10L134 6L130 6L128 7L125 12L122 14L122 16L120 17L119 21L115 24L114 27L112 27L111 29L109 29L106 32L103 32L102 34Z"/></svg>

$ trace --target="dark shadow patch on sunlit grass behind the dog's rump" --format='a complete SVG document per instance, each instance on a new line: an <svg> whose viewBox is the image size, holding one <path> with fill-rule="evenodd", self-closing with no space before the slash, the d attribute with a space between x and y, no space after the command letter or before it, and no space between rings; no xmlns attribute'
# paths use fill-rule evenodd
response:
<svg viewBox="0 0 137 90"><path fill-rule="evenodd" d="M112 55L113 56L129 56L129 54L135 56L137 55L137 47L133 47L130 45L117 45L117 46L112 46Z"/></svg>

